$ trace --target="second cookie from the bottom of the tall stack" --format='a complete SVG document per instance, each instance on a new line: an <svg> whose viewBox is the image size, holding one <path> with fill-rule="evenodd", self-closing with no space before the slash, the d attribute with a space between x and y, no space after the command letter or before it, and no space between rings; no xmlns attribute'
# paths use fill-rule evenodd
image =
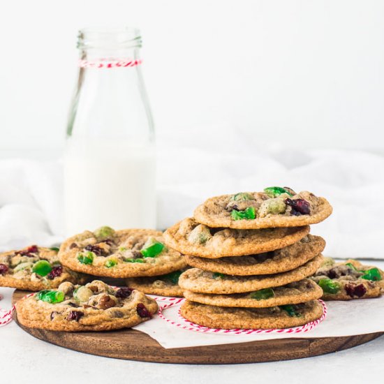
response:
<svg viewBox="0 0 384 384"><path fill-rule="evenodd" d="M265 288L249 293L232 295L208 295L184 291L184 297L191 302L218 307L266 308L285 304L300 304L320 299L323 290L309 279L289 283L286 286Z"/></svg>

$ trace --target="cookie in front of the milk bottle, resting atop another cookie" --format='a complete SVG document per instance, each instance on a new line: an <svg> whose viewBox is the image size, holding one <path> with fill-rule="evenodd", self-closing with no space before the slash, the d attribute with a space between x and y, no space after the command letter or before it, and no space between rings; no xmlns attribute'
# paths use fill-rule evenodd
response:
<svg viewBox="0 0 384 384"><path fill-rule="evenodd" d="M122 279L186 267L184 257L164 245L162 232L146 229L87 230L61 244L59 259L77 272Z"/></svg>

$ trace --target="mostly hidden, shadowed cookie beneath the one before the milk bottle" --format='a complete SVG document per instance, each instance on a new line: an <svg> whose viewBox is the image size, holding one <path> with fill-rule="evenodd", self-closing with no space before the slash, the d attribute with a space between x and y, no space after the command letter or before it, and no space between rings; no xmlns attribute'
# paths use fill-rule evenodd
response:
<svg viewBox="0 0 384 384"><path fill-rule="evenodd" d="M179 287L179 276L183 272L184 269L161 276L135 277L127 279L126 285L147 295L183 297L183 290Z"/></svg>

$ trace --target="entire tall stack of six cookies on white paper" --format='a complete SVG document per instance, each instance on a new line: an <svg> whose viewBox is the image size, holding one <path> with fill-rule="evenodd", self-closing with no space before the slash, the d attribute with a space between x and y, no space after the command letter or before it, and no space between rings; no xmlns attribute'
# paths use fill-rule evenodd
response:
<svg viewBox="0 0 384 384"><path fill-rule="evenodd" d="M179 278L187 320L213 328L270 329L320 318L323 290L307 279L325 241L309 224L330 216L325 198L288 187L210 198L164 233L193 268Z"/></svg>

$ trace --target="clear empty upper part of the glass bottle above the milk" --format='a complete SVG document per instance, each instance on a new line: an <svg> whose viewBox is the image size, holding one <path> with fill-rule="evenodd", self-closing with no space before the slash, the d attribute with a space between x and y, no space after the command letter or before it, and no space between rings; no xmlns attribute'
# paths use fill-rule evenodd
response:
<svg viewBox="0 0 384 384"><path fill-rule="evenodd" d="M68 124L77 138L153 139L140 36L80 32L79 78Z"/></svg>

